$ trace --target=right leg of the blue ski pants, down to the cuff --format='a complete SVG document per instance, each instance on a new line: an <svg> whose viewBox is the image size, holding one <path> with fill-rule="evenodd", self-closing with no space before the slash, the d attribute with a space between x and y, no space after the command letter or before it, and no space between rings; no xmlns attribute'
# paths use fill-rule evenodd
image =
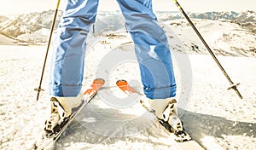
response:
<svg viewBox="0 0 256 150"><path fill-rule="evenodd" d="M158 25L151 0L117 0L135 44L144 93L149 99L176 95L172 57L165 32Z"/></svg>

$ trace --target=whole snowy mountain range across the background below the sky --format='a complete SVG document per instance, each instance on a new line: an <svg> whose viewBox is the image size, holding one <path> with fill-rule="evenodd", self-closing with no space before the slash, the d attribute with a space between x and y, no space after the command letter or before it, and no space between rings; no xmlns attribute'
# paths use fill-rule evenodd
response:
<svg viewBox="0 0 256 150"><path fill-rule="evenodd" d="M59 26L62 14L63 12L60 10L55 23L55 29ZM173 49L182 53L188 53L185 49L189 49L189 54L191 51L200 54L207 53L204 45L196 38L195 33L191 30L192 28L187 20L183 19L181 13L177 11L158 11L155 14L158 16L160 23L167 26L164 30L168 34L169 40L176 45ZM213 45L212 47L218 55L255 55L256 12L249 10L241 13L234 11L189 12L188 15L200 30L202 36ZM5 36L5 38L12 38L12 40L17 39L45 44L49 39L53 16L54 10L20 14L12 19L0 16L0 34ZM168 31L170 30L168 28L171 31ZM94 36L114 36L117 32L125 32L124 17L120 11L99 12L91 32ZM177 36L172 35L172 32L176 32ZM177 44L178 42L181 43ZM1 44L4 44L4 42Z"/></svg>

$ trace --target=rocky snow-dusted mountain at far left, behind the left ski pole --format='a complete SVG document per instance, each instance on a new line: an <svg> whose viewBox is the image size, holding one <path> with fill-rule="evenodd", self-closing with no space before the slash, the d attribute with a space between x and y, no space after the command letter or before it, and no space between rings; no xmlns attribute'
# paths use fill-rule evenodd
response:
<svg viewBox="0 0 256 150"><path fill-rule="evenodd" d="M2 21L0 30L6 36L20 39L26 42L46 43L52 24L54 10L42 13L20 14L14 19ZM62 12L59 12L61 17ZM57 20L56 25L59 20Z"/></svg>

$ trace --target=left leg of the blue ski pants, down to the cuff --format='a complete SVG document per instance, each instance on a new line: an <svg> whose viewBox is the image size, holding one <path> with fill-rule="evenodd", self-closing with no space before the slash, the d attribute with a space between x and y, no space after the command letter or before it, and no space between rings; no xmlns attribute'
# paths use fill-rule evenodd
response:
<svg viewBox="0 0 256 150"><path fill-rule="evenodd" d="M90 25L96 20L98 0L67 0L67 8L54 43L49 93L76 96L82 87L84 55Z"/></svg>

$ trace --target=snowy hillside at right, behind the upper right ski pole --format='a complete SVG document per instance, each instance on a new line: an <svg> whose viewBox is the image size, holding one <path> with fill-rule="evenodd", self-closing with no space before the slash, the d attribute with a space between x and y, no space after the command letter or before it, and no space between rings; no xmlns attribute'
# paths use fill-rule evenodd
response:
<svg viewBox="0 0 256 150"><path fill-rule="evenodd" d="M256 34L223 20L192 20L201 36L217 55L255 56ZM208 54L187 20L162 23L172 49L186 54Z"/></svg>

